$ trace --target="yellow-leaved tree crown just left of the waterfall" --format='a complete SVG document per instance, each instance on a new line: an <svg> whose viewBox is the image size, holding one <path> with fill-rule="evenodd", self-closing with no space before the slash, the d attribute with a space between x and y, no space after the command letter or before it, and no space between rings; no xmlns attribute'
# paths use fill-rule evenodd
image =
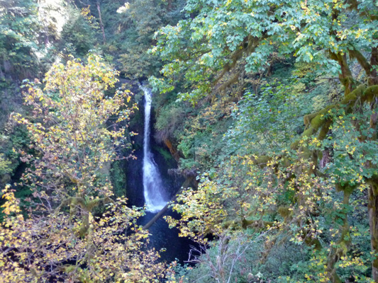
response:
<svg viewBox="0 0 378 283"><path fill-rule="evenodd" d="M26 105L33 109L33 120L13 117L26 125L33 149L41 154L40 158L24 156L34 167L26 180L30 176L28 183L37 192L42 186L50 202L111 197L106 167L117 158L117 150L129 146L123 138L126 126L119 122L127 120L134 107L123 108L125 100L130 103L128 91L105 96L114 87L116 75L99 57L90 55L86 65L69 61L52 67L45 79L47 93L26 85Z"/></svg>

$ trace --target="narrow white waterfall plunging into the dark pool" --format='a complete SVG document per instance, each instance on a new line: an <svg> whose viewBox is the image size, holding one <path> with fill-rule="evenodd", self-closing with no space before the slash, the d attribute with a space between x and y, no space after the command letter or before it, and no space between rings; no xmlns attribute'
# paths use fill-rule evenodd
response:
<svg viewBox="0 0 378 283"><path fill-rule="evenodd" d="M152 103L152 91L150 88L140 86L145 93L145 137L143 140L143 189L145 204L148 212L158 212L165 207L162 177L157 169L150 150L150 114Z"/></svg>

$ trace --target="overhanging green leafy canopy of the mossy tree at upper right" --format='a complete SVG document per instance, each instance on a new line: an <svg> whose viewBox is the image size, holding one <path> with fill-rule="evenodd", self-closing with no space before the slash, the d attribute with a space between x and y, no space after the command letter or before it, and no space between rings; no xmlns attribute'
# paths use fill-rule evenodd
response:
<svg viewBox="0 0 378 283"><path fill-rule="evenodd" d="M181 97L195 101L211 90L221 93L245 74L263 71L277 55L293 53L299 61L324 64L331 73L340 68L344 83L351 75L347 53L367 76L376 76L362 56L365 51L374 54L377 47L376 6L350 2L188 1L184 11L196 16L156 35L152 52L167 64L165 79L154 79L155 86L169 91L182 78L187 87ZM222 83L224 76L228 79Z"/></svg>

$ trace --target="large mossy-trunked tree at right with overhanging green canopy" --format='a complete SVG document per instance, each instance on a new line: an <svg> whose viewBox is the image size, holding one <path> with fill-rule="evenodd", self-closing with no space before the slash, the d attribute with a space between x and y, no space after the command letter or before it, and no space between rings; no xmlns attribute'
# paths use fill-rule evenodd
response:
<svg viewBox="0 0 378 283"><path fill-rule="evenodd" d="M212 103L221 98L240 97L232 86L240 84L243 89L246 78L268 73L269 65L277 57L294 56L297 62L314 64L323 74L338 75L344 96L338 96L321 110L304 115L304 132L286 150L268 151L269 154L255 151L247 156L248 164L270 169L270 173L265 181L256 183L251 192L261 196L257 204L247 201L250 205L261 205L264 213L248 209L251 214L247 213L246 219L251 222L240 221L240 226L253 226L256 218L267 214L277 219L277 212L282 212L276 226L282 228L290 216L299 238L316 253L323 253L323 260L326 258L326 270L318 273L319 278L341 282L338 268L345 267L345 262L341 261L348 259L352 246L348 220L352 214L351 200L360 189L369 200L370 236L375 256L372 279L377 282L377 4L364 0L188 1L184 10L189 14L188 19L162 28L157 33L157 46L152 48L152 52L167 61L161 70L163 77L150 80L161 93L181 86L177 90L179 98L193 104L208 97L212 98ZM359 69L360 74L353 67ZM258 99L265 99L259 91L255 92ZM272 104L274 102L268 105ZM269 108L265 109L270 112L272 108ZM259 108L252 108L256 109ZM245 118L241 114L240 120ZM269 113L267 116L272 117ZM327 150L334 155L325 167L323 152ZM254 176L258 180L261 174L264 173ZM257 193L262 184L265 184L264 189ZM333 193L339 192L343 197L338 200L337 195L333 195L330 202L334 205L331 221L339 236L330 242L330 253L326 255L328 243L323 246L318 241L313 231L321 229L311 219L317 219L322 205L331 206L323 202L328 200L328 185ZM308 191L316 187L318 192ZM274 200L264 197L265 194L275 195ZM288 203L283 200L291 194L296 197L289 198L289 204L298 210L290 206L288 212ZM320 199L314 201L313 195ZM275 207L275 216L274 209L269 208L271 205ZM270 213L265 214L267 211ZM301 221L297 222L298 219ZM261 228L267 229L264 222L257 225L257 229Z"/></svg>

